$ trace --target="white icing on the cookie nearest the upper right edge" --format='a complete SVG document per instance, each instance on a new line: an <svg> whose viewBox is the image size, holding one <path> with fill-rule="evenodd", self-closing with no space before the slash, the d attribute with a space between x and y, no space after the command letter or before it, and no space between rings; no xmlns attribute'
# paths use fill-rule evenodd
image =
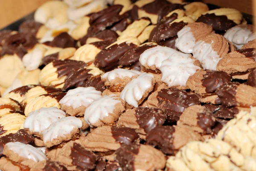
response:
<svg viewBox="0 0 256 171"><path fill-rule="evenodd" d="M224 38L231 41L237 49L240 49L245 43L247 43L247 39L252 34L247 28L241 28L240 26L234 26L227 30L224 34Z"/></svg>

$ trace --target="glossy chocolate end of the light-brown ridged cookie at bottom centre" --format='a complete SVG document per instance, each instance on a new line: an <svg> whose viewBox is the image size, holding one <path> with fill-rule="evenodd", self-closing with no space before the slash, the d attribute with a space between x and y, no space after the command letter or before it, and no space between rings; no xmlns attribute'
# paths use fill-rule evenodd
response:
<svg viewBox="0 0 256 171"><path fill-rule="evenodd" d="M111 131L113 138L116 139L116 142L119 142L120 144L130 145L139 139L138 133L131 128L112 127Z"/></svg>

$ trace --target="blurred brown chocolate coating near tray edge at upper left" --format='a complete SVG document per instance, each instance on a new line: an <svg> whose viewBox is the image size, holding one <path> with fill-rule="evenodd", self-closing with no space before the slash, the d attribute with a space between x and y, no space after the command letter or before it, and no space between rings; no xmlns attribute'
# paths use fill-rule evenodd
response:
<svg viewBox="0 0 256 171"><path fill-rule="evenodd" d="M19 31L24 34L31 34L33 36L36 36L41 26L43 26L42 23L38 23L34 20L27 20L27 21L24 21L19 26Z"/></svg>

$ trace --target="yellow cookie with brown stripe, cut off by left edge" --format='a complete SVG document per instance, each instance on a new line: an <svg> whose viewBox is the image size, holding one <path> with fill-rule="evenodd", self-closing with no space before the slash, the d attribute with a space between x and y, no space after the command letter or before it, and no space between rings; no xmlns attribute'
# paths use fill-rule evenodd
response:
<svg viewBox="0 0 256 171"><path fill-rule="evenodd" d="M0 98L0 116L3 116L10 111L21 111L23 110L22 105L11 98Z"/></svg>

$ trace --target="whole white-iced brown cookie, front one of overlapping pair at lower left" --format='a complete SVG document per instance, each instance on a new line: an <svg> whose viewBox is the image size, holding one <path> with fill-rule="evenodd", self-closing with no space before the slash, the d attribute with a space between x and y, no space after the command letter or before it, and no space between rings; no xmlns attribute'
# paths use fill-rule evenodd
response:
<svg viewBox="0 0 256 171"><path fill-rule="evenodd" d="M72 139L80 133L82 121L74 116L67 116L53 122L48 128L42 131L40 138L47 148L58 145L63 141Z"/></svg>

